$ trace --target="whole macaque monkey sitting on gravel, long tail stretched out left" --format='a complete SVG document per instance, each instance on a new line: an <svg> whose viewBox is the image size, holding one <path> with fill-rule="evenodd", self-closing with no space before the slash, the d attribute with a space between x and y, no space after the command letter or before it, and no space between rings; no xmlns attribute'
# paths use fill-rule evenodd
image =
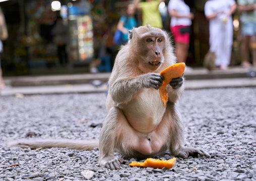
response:
<svg viewBox="0 0 256 181"><path fill-rule="evenodd" d="M124 157L148 158L163 155L166 150L177 157L210 155L184 146L183 123L176 103L184 92L183 76L167 86L168 102L163 107L158 89L164 77L160 71L176 63L169 34L150 25L133 28L129 41L116 55L109 77L106 98L107 116L99 141L22 140L14 145L69 147L91 150L99 148L99 163L109 169L126 164Z"/></svg>

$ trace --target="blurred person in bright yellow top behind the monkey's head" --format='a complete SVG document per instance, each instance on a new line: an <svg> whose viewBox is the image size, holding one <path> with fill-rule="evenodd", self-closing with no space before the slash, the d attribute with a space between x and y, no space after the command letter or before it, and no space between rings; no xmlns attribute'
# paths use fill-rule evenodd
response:
<svg viewBox="0 0 256 181"><path fill-rule="evenodd" d="M135 0L134 4L137 9L142 11L142 26L149 24L152 27L163 28L161 14L158 10L159 4L164 0L146 0L141 2Z"/></svg>

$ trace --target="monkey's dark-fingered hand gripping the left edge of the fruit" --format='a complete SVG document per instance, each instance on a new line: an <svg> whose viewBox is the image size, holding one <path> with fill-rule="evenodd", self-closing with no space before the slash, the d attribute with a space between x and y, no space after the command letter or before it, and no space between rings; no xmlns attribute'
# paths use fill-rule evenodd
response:
<svg viewBox="0 0 256 181"><path fill-rule="evenodd" d="M146 73L142 75L143 85L146 88L155 88L158 89L159 86L162 86L164 77L160 73Z"/></svg>

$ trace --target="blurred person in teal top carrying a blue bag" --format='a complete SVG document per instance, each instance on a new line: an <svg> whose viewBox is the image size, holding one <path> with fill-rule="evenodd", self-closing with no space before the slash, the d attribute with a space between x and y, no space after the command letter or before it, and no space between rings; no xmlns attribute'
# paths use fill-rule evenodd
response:
<svg viewBox="0 0 256 181"><path fill-rule="evenodd" d="M117 24L117 29L122 32L122 41L128 42L129 30L137 27L137 21L135 18L136 7L134 4L127 6L126 15L122 16Z"/></svg>

